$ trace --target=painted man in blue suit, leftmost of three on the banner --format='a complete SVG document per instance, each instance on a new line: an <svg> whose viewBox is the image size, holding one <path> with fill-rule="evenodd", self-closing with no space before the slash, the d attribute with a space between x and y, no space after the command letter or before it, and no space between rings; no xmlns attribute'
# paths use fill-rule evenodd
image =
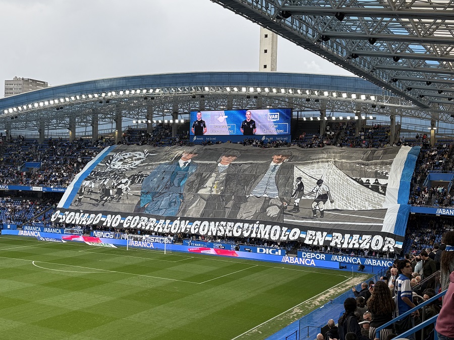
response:
<svg viewBox="0 0 454 340"><path fill-rule="evenodd" d="M143 180L139 207L136 212L175 216L183 200L183 188L186 181L197 169L192 158L197 153L183 152L180 159L158 165Z"/></svg>

